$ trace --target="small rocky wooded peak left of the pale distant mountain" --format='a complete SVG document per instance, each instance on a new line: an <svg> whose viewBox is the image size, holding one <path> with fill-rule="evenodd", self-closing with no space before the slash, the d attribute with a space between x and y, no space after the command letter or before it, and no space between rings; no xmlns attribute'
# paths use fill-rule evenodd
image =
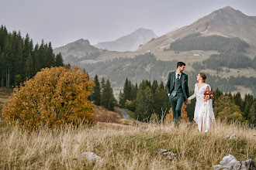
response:
<svg viewBox="0 0 256 170"><path fill-rule="evenodd" d="M84 59L96 59L104 53L104 50L91 46L88 39L78 39L75 42L68 43L66 46L54 49L54 53L61 53L64 63L75 64Z"/></svg>

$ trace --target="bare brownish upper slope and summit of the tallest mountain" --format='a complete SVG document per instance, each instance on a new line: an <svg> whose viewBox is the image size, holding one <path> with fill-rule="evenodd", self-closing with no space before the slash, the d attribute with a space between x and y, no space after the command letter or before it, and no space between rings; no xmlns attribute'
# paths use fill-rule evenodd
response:
<svg viewBox="0 0 256 170"><path fill-rule="evenodd" d="M256 46L256 16L244 15L230 6L220 8L189 26L184 26L147 42L144 46L140 46L137 51L151 50L156 52L164 48L167 49L171 42L195 32L200 32L202 36L238 37L250 45Z"/></svg>

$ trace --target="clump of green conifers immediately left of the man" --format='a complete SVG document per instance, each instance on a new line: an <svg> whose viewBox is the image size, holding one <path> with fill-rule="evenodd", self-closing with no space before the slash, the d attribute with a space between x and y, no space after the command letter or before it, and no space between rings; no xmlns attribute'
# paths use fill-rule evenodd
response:
<svg viewBox="0 0 256 170"><path fill-rule="evenodd" d="M168 112L170 101L166 94L164 83L157 83L154 80L142 80L139 87L137 83L133 85L130 80L126 78L123 92L119 93L120 107L131 110L135 113L137 120L144 121L151 114L157 114L161 117L163 112Z"/></svg>

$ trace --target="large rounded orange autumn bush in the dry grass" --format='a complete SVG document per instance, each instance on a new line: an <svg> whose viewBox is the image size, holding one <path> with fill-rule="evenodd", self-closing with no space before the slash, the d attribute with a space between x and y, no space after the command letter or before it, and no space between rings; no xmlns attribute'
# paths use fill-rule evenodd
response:
<svg viewBox="0 0 256 170"><path fill-rule="evenodd" d="M92 124L93 104L88 97L95 83L78 66L42 69L16 87L2 115L9 124L33 130L64 124Z"/></svg>

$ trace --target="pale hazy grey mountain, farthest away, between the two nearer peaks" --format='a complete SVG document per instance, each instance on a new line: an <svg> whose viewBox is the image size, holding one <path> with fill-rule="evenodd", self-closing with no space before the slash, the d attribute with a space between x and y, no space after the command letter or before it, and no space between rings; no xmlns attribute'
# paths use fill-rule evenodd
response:
<svg viewBox="0 0 256 170"><path fill-rule="evenodd" d="M108 49L109 51L134 51L149 42L151 39L157 38L157 35L150 29L137 29L135 32L127 36L123 36L111 42L99 42L95 45L98 49Z"/></svg>

